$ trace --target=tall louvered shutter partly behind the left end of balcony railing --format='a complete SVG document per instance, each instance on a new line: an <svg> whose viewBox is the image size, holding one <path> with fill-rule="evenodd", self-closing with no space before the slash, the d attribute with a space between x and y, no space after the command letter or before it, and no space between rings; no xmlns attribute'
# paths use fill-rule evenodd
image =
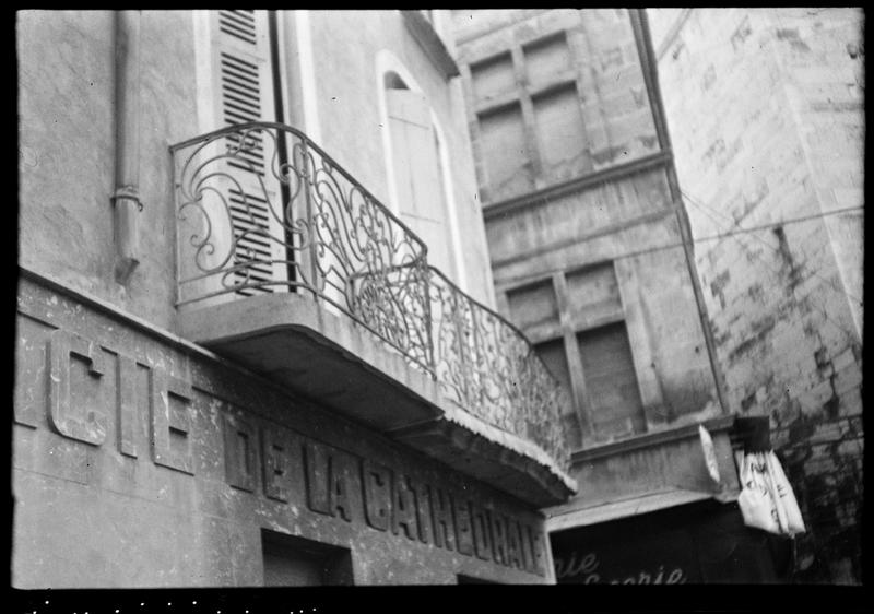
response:
<svg viewBox="0 0 874 614"><path fill-rule="evenodd" d="M215 117L220 127L247 121L276 121L273 105L273 71L267 11L211 11L212 78L215 92ZM275 132L274 132L275 133ZM284 231L276 216L283 212L280 184L272 172L275 142L264 132L255 132L257 145L245 147L226 161L226 172L236 179L227 181L227 199L237 237L234 265L246 264L228 282L261 283L284 281L287 268L283 245ZM239 146L239 137L231 135L224 146ZM253 262L255 261L255 262ZM250 296L284 290L285 286L240 288Z"/></svg>

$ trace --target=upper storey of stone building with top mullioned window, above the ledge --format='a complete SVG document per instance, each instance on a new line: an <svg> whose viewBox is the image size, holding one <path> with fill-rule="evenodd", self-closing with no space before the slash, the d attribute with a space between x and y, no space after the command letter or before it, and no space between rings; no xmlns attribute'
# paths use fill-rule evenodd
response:
<svg viewBox="0 0 874 614"><path fill-rule="evenodd" d="M458 10L453 24L459 61L471 69L465 78L468 110L477 178L487 202L658 151L626 9ZM550 44L556 34L563 52ZM544 52L550 47L553 52ZM504 60L495 60L498 56ZM494 66L485 68L493 62L505 63L503 78ZM485 79L491 81L487 87L483 72L493 73ZM511 104L506 110L516 101L520 104L515 115L497 113L505 102ZM519 131L520 142L511 145L506 140L508 128ZM510 155L503 151L510 146L523 150L517 172L492 168L493 158ZM520 180L524 176L528 180Z"/></svg>

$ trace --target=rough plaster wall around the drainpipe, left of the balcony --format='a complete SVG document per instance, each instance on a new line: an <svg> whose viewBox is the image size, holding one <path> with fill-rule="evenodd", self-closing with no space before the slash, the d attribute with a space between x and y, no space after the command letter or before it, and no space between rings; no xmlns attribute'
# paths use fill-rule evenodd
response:
<svg viewBox="0 0 874 614"><path fill-rule="evenodd" d="M173 330L176 222L167 146L193 137L197 126L192 20L188 12L141 16L144 210L140 265L127 286L113 273L114 21L102 11L19 13L20 260Z"/></svg>

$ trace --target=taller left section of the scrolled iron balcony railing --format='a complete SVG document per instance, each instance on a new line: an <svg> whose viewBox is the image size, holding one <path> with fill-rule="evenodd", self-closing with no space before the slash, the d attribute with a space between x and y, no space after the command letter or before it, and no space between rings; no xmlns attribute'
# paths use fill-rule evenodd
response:
<svg viewBox="0 0 874 614"><path fill-rule="evenodd" d="M310 292L428 368L425 245L318 145L253 122L172 151L178 305Z"/></svg>

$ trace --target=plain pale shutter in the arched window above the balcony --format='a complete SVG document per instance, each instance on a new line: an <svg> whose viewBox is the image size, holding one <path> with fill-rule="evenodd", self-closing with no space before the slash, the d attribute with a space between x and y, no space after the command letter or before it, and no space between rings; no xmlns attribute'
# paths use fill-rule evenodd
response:
<svg viewBox="0 0 874 614"><path fill-rule="evenodd" d="M428 261L452 275L449 223L437 135L425 96L386 90L398 209L401 220L428 246Z"/></svg>

